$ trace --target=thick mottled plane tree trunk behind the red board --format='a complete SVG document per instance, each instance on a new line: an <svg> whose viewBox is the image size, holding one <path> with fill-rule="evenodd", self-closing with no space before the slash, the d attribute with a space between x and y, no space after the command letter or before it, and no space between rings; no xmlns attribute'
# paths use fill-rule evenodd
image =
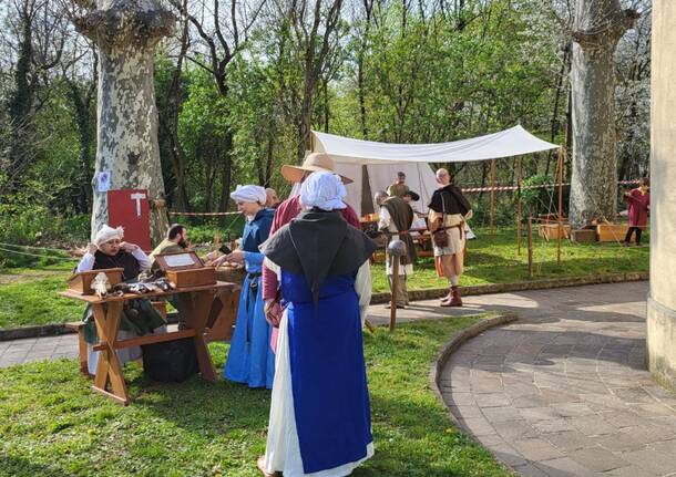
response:
<svg viewBox="0 0 676 477"><path fill-rule="evenodd" d="M99 48L95 174L111 172L111 189L147 189L151 239L168 226L157 145L153 52L173 32L174 15L156 0L96 0L75 20ZM92 237L107 222L106 193L93 191Z"/></svg>

